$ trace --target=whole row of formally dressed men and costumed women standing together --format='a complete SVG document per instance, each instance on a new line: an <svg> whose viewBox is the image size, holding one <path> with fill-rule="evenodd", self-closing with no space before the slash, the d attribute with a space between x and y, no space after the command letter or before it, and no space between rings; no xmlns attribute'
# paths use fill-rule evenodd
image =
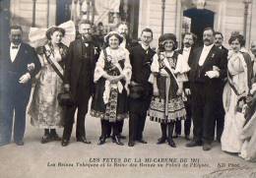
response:
<svg viewBox="0 0 256 178"><path fill-rule="evenodd" d="M173 138L181 135L184 120L186 147L210 150L217 136L224 151L240 153L245 159L256 157L256 42L246 50L243 36L233 32L227 50L223 34L206 28L203 46L196 47L195 34L186 32L182 48L177 49L175 34L164 33L154 50L153 31L148 28L141 31L139 42L132 42L127 24L120 23L100 46L89 21L82 20L78 30L80 37L66 46L65 30L52 27L46 31L47 42L34 50L22 41L22 28L11 27L11 42L0 65L1 146L11 142L13 117L14 142L24 145L35 77L28 113L32 125L44 129L42 144L61 141L68 146L76 110L76 139L91 144L85 118L92 97L90 114L101 123L98 145L111 138L122 146L125 118L129 118L128 146L147 144L143 131L149 116L160 123L157 144L175 148ZM68 104L60 104L60 93L68 93ZM56 132L59 127L64 127L62 138Z"/></svg>

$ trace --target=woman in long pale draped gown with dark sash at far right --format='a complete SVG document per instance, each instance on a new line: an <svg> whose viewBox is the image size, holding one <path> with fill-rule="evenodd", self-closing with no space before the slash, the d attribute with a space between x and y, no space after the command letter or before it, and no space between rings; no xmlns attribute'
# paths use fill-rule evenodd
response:
<svg viewBox="0 0 256 178"><path fill-rule="evenodd" d="M252 77L250 55L243 48L245 41L241 34L234 33L228 40L227 84L224 87L224 133L222 149L239 153L242 147L241 132L245 122L244 106L249 94Z"/></svg>

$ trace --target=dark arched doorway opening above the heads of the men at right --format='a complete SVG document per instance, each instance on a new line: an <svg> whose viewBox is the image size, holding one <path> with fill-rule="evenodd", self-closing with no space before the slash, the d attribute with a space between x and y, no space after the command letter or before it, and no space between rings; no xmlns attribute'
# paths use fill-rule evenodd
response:
<svg viewBox="0 0 256 178"><path fill-rule="evenodd" d="M198 45L203 43L203 30L207 27L214 28L215 13L207 9L188 9L183 16L191 19L190 31L198 37Z"/></svg>

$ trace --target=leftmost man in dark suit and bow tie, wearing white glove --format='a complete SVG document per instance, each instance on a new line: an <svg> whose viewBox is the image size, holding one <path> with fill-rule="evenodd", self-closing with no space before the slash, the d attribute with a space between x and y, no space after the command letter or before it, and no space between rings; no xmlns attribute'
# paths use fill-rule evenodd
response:
<svg viewBox="0 0 256 178"><path fill-rule="evenodd" d="M1 59L0 146L11 142L14 117L14 142L24 145L26 108L32 90L32 78L40 69L39 59L29 44L22 41L23 30L13 26L10 44Z"/></svg>

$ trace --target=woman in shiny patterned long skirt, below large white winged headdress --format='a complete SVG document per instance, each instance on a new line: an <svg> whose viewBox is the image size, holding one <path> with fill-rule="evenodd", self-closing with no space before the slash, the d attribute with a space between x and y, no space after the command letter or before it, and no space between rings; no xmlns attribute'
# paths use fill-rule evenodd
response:
<svg viewBox="0 0 256 178"><path fill-rule="evenodd" d="M57 95L63 91L63 83L50 61L55 63L59 71L63 71L68 49L61 42L64 34L64 29L50 28L46 31L48 42L38 50L42 68L35 82L29 115L32 126L44 129L41 144L61 140L56 128L63 126L63 109L58 103Z"/></svg>

